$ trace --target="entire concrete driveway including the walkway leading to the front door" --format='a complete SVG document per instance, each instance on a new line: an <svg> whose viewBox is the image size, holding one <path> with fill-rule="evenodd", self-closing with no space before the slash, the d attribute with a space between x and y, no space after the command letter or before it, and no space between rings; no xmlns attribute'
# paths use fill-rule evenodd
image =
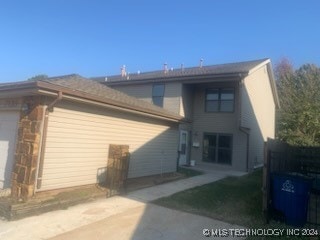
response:
<svg viewBox="0 0 320 240"><path fill-rule="evenodd" d="M206 217L170 210L150 201L243 173L219 171L80 204L18 221L0 220L1 240L201 239L204 228L239 228ZM215 238L219 239L219 238ZM222 239L222 238L221 238ZM223 238L228 239L228 238ZM230 238L235 239L235 238Z"/></svg>

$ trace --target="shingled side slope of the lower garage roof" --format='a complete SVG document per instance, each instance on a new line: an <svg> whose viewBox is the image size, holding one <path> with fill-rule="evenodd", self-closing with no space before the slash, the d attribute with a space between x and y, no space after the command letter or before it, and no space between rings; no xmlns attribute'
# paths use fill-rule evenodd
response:
<svg viewBox="0 0 320 240"><path fill-rule="evenodd" d="M67 75L41 80L55 86L67 88L74 94L84 93L86 96L100 99L102 102L112 103L116 106L141 111L158 116L170 117L173 119L183 119L182 116L171 113L161 107L155 106L143 100L128 96L120 91L111 89L96 81L83 78L79 75Z"/></svg>

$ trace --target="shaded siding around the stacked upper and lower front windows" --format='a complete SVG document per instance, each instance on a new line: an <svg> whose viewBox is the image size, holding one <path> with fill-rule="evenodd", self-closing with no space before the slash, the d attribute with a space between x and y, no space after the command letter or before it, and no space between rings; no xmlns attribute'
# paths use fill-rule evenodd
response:
<svg viewBox="0 0 320 240"><path fill-rule="evenodd" d="M205 112L205 93L208 88L234 88L235 104L232 113ZM232 135L232 165L230 168L246 170L246 136L239 131L239 95L238 83L215 83L197 85L195 88L193 106L193 140L200 143L200 147L191 149L191 159L202 161L204 133L221 133Z"/></svg>

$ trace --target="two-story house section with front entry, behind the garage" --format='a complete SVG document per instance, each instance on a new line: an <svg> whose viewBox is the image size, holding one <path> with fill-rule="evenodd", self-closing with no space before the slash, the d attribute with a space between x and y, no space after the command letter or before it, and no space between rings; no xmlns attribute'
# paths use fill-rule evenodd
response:
<svg viewBox="0 0 320 240"><path fill-rule="evenodd" d="M179 164L249 171L263 163L279 107L269 59L96 77L106 86L179 114Z"/></svg>

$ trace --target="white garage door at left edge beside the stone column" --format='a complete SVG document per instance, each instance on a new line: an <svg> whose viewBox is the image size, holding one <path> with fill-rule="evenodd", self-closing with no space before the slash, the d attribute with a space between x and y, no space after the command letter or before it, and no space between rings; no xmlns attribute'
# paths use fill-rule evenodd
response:
<svg viewBox="0 0 320 240"><path fill-rule="evenodd" d="M0 110L0 189L10 188L19 113Z"/></svg>

